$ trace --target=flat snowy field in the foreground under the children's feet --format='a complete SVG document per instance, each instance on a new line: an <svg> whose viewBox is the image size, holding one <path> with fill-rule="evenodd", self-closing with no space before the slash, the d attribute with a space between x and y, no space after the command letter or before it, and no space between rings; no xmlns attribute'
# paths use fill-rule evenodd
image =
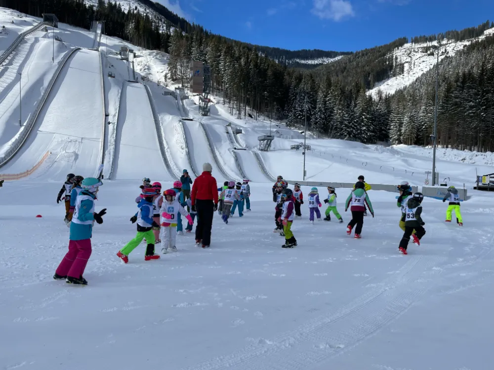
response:
<svg viewBox="0 0 494 370"><path fill-rule="evenodd" d="M494 360L492 196L462 203L463 228L424 200L427 234L403 256L395 194L370 192L375 219L361 240L345 234L348 190L337 191L343 224L311 226L302 206L298 247L284 250L270 186L253 184L252 212L228 225L215 216L209 249L186 234L178 253L145 262L141 245L125 265L115 254L135 234L140 182L105 182L89 285L75 287L51 278L69 235L61 183L0 191L4 369L481 370Z"/></svg>

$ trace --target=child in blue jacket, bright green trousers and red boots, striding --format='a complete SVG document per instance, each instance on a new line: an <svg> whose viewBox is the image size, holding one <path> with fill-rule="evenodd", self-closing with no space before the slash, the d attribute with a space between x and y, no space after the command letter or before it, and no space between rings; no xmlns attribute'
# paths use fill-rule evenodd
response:
<svg viewBox="0 0 494 370"><path fill-rule="evenodd" d="M121 258L124 263L128 262L128 255L130 252L132 252L144 238L146 238L147 243L144 260L160 259L159 255L154 254L155 237L153 227L158 226L158 224L153 221L153 199L156 195L156 190L152 187L145 187L142 189L142 195L144 197L137 205L139 210L130 218L130 222L132 223L137 221L137 235L117 253L117 256Z"/></svg>

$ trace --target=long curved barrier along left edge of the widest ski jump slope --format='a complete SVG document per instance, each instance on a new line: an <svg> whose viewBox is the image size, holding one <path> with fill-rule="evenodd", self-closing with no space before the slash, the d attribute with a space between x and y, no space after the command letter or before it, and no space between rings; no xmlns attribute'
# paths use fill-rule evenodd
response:
<svg viewBox="0 0 494 370"><path fill-rule="evenodd" d="M41 100L38 102L38 105L36 106L33 114L31 114L26 124L21 128L12 146L2 155L2 157L0 157L0 168L3 167L10 159L12 159L12 157L17 153L17 151L22 147L27 137L31 133L31 130L33 129L34 124L36 123L36 120L40 115L41 109L43 108L44 103L48 99L48 95L51 92L51 89L53 88L53 85L55 84L58 75L62 71L62 68L65 66L65 63L69 60L69 58L79 50L81 50L80 47L76 47L72 49L69 53L66 53L64 55L62 60L58 62L58 67L55 73L51 76L51 79L48 82L48 85L46 86L46 89L44 90L43 95L41 96Z"/></svg>

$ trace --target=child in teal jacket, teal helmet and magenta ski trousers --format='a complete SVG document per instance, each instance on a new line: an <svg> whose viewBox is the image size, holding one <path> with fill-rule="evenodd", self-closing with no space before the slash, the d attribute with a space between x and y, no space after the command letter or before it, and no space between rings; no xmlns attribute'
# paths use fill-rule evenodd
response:
<svg viewBox="0 0 494 370"><path fill-rule="evenodd" d="M82 277L91 256L91 237L94 222L103 223L106 208L94 212L94 200L99 186L103 183L93 177L82 181L82 191L77 197L74 217L70 224L69 252L62 259L53 279L67 279L68 284L87 285Z"/></svg>

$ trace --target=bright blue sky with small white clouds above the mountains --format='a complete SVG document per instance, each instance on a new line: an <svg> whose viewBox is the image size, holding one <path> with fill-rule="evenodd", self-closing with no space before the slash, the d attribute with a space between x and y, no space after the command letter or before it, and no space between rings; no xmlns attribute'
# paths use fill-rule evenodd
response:
<svg viewBox="0 0 494 370"><path fill-rule="evenodd" d="M494 21L494 0L158 0L222 36L285 49L356 51Z"/></svg>

